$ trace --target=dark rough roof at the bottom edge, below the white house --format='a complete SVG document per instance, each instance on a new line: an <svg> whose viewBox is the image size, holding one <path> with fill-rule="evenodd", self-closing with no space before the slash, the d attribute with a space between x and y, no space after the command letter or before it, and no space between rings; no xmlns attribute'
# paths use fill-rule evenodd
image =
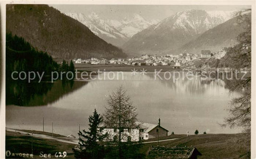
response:
<svg viewBox="0 0 256 159"><path fill-rule="evenodd" d="M202 155L195 147L152 147L148 152L149 159L190 159L192 154Z"/></svg>

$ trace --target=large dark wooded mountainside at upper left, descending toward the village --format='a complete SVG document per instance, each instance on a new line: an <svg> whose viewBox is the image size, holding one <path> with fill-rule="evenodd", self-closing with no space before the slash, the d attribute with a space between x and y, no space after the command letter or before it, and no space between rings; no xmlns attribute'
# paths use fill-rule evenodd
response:
<svg viewBox="0 0 256 159"><path fill-rule="evenodd" d="M6 32L54 58L126 57L85 25L48 5L7 4Z"/></svg>

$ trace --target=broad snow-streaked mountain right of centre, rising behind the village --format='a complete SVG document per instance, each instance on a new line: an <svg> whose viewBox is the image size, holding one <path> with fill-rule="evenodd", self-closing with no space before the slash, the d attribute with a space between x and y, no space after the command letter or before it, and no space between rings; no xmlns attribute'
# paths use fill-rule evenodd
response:
<svg viewBox="0 0 256 159"><path fill-rule="evenodd" d="M122 48L126 53L132 55L144 53L159 55L166 53L178 54L183 53L185 49L187 49L186 51L191 51L191 48L190 50L186 48L186 43L193 42L203 33L231 19L233 16L234 11L180 11L158 22L158 24L138 32L128 42L124 43ZM225 29L228 30L228 28ZM218 32L218 29L216 31ZM223 36L229 33L221 30L219 32L224 33ZM199 41L197 40L197 42ZM202 42L196 44L199 47ZM193 44L189 46L191 47ZM196 48L193 49L196 50Z"/></svg>

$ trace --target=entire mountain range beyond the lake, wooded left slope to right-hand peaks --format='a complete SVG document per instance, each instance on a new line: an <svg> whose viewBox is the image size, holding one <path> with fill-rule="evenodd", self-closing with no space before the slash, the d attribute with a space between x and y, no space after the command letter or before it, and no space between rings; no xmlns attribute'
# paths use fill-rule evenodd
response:
<svg viewBox="0 0 256 159"><path fill-rule="evenodd" d="M95 12L61 13L48 5L7 5L6 32L64 59L216 52L235 45L244 32L235 12L186 10L161 21L139 14L117 20Z"/></svg>

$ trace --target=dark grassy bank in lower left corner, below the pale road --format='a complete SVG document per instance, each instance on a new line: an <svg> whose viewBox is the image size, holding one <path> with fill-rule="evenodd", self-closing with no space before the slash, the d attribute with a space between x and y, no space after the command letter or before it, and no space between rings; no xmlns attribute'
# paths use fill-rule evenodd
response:
<svg viewBox="0 0 256 159"><path fill-rule="evenodd" d="M54 134L54 136L61 136L61 135ZM10 150L11 153L31 154L32 138L30 135L23 135L23 134L16 133L16 136L15 136L15 132L6 131L5 139L6 139L5 149ZM50 140L50 139L33 138L33 155L34 155L34 158L38 159L40 158L39 157L40 152L43 151L44 153L47 153L47 154L50 153L52 158L55 158L54 155L56 152L66 151L67 152L66 158L73 159L74 154L73 154L72 148L74 146L75 146L74 144L63 143L63 142ZM13 157L11 156L11 158Z"/></svg>

